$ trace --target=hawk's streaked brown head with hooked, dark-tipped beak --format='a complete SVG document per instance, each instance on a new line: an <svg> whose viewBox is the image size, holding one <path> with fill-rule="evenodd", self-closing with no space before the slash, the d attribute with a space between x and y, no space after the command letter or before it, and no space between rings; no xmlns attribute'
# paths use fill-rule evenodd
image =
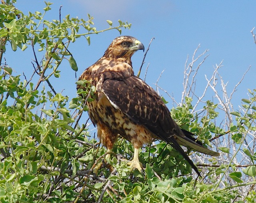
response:
<svg viewBox="0 0 256 203"><path fill-rule="evenodd" d="M144 51L144 45L136 38L131 36L120 36L112 41L103 57L130 59L134 52L139 49Z"/></svg>

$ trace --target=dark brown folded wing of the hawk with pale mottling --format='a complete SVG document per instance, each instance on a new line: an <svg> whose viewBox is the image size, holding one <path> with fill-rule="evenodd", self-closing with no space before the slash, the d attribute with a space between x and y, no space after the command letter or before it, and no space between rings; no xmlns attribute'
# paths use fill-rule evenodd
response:
<svg viewBox="0 0 256 203"><path fill-rule="evenodd" d="M102 84L104 94L134 122L141 124L170 142L179 128L159 95L138 77L122 80L107 79Z"/></svg>

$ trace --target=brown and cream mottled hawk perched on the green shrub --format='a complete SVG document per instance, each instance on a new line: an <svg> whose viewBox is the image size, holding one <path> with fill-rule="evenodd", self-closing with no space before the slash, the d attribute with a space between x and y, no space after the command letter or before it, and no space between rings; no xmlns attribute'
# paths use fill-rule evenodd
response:
<svg viewBox="0 0 256 203"><path fill-rule="evenodd" d="M96 87L96 99L87 105L90 119L97 125L98 137L108 151L112 150L119 135L132 142L134 158L131 165L139 170L138 150L142 145L153 139L164 140L180 152L200 175L179 144L212 156L219 156L219 153L185 136L156 91L134 76L131 57L139 49L144 51L144 45L134 37L117 37L103 57L79 78L92 81Z"/></svg>

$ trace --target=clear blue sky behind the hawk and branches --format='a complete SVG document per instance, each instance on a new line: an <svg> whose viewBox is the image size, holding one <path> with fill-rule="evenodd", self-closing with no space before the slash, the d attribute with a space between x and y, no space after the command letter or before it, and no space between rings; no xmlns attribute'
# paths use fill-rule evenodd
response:
<svg viewBox="0 0 256 203"><path fill-rule="evenodd" d="M183 91L184 64L187 56L190 59L194 50L200 44L198 53L209 49L209 57L202 65L197 78L198 94L204 91L206 79L214 71L214 66L223 60L220 69L224 81L228 82L228 91L233 90L244 72L251 65L245 80L238 87L233 103L237 109L242 98L247 98L247 89L256 87L256 44L251 30L256 26L256 2L238 0L215 1L179 1L179 0L52 0L52 10L46 15L47 20L59 18L59 8L62 5L62 18L67 14L71 17L87 19L87 13L94 16L94 26L97 30L108 28L106 20L112 20L113 26L118 20L132 24L130 30L123 30L122 35L131 35L140 40L145 47L155 37L148 51L141 77L144 78L146 66L149 69L146 82L155 89L158 85L173 94L180 101ZM45 4L42 0L17 0L16 7L24 14L28 11L43 12ZM254 31L256 34L256 30ZM78 64L77 76L96 62L111 41L119 35L116 30L98 35L91 35L91 45L85 38L80 38L69 47ZM8 49L8 48L7 48ZM6 52L7 63L17 74L23 71L27 77L32 71L32 53L29 50L15 53L16 60L11 60L12 51ZM132 57L134 72L137 73L144 53L138 51ZM20 58L19 58L20 57ZM20 63L22 61L22 63ZM190 60L189 60L190 61ZM63 94L76 96L75 74L68 63L63 63L61 77L58 79L57 91L64 89ZM165 93L161 93L170 101ZM211 99L212 95L208 95ZM168 104L172 108L172 103Z"/></svg>

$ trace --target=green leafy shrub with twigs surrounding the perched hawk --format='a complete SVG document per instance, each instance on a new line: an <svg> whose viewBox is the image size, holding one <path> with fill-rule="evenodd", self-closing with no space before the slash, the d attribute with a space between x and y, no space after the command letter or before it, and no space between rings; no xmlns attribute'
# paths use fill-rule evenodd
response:
<svg viewBox="0 0 256 203"><path fill-rule="evenodd" d="M250 97L242 99L239 110L226 108L232 122L225 123L228 128L225 130L225 126L216 124L221 104L206 101L202 102L201 110L196 110L194 95L186 89L188 86L184 88L182 104L172 108L172 117L182 128L197 134L205 146L215 145L223 152L220 158L190 153L201 169L202 178L196 178L182 156L163 142L142 149L143 174L131 172L121 159L132 157L131 144L118 139L111 159L106 162L102 159L106 157L106 149L91 137L86 123L80 120L88 110L84 100L93 95L94 87L88 86L88 81L78 81L79 85L88 86L86 91L78 92L84 99L81 96L70 99L56 93L48 80L50 77L60 80L59 67L66 56L70 57L71 68L77 70L68 45L78 37L86 37L90 44L89 34L110 29L121 32L121 28L130 28L130 24L119 21L119 26L112 27L108 20L108 29L96 31L89 14L88 20L67 15L63 22L50 22L44 20L44 15L51 3L46 2L43 14L35 12L28 16L13 3L14 0L0 5L1 202L255 202L256 153L254 142L248 142L248 137L255 139L256 90L248 90ZM82 28L86 32L78 34ZM12 68L2 63L2 54L10 49L9 43L13 51L33 50L34 73L30 80L22 81L22 76L15 76ZM44 56L38 60L40 51L44 51ZM31 81L36 77L34 85ZM193 88L193 81L190 83ZM227 145L226 136L230 138ZM242 160L243 169L237 159ZM101 167L96 170L98 166Z"/></svg>

